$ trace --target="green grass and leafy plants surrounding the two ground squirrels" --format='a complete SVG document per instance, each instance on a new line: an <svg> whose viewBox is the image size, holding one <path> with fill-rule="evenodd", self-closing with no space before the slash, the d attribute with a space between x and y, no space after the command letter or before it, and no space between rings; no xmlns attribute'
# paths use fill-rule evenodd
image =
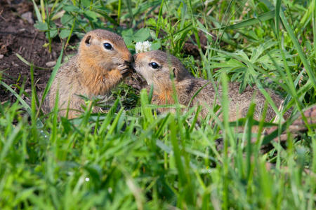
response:
<svg viewBox="0 0 316 210"><path fill-rule="evenodd" d="M55 36L67 47L72 34L82 37L96 28L117 31L131 52L136 41L150 40L193 75L220 81L224 92L230 80L241 83L240 91L254 84L274 88L287 98L285 109L293 109L284 125L277 123L287 130L316 103L316 7L315 1L275 2L33 1L35 27L46 31L48 48ZM198 31L208 39L206 52ZM191 35L199 60L181 51ZM237 122L245 125L237 134L228 122L227 97L218 104L223 122L214 106L196 124L194 109L183 113L176 106L176 113L157 115L145 91L135 99L121 85L108 113L91 113L87 106L80 118L67 120L58 119L58 109L48 116L38 111L33 77L31 106L21 97L23 85L14 92L4 82L17 100L0 104L1 209L315 209L315 127L299 139L287 130L284 146L272 142L263 153L262 144L272 137L263 141L258 133L249 144L251 127L258 125L254 104ZM124 106L129 102L135 108ZM260 130L269 125L258 123Z"/></svg>

